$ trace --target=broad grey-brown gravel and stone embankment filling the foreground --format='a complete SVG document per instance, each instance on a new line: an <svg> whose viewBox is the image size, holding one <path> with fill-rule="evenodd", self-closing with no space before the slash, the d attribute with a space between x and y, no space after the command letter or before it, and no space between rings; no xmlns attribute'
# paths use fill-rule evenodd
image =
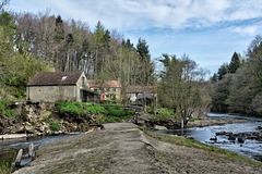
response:
<svg viewBox="0 0 262 174"><path fill-rule="evenodd" d="M45 145L36 160L14 173L262 173L261 165L158 141L132 123L104 127Z"/></svg>

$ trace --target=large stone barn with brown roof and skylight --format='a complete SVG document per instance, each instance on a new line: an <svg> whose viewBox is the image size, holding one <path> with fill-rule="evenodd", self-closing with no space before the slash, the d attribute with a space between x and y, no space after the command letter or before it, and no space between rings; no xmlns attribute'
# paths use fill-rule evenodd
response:
<svg viewBox="0 0 262 174"><path fill-rule="evenodd" d="M32 101L86 101L94 98L95 92L84 72L37 73L26 87L27 100Z"/></svg>

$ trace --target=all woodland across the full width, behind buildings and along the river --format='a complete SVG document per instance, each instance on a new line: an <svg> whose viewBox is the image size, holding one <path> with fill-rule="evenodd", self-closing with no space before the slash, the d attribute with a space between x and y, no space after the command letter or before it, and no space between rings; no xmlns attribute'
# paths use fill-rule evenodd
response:
<svg viewBox="0 0 262 174"><path fill-rule="evenodd" d="M163 53L153 61L144 38L134 45L99 21L92 30L48 10L7 11L8 2L0 4L0 100L25 99L26 84L37 72L83 71L87 78L119 79L122 100L128 100L128 86L157 86L158 105L184 122L210 109L262 115L261 36L246 55L235 52L207 80L207 72L187 54Z"/></svg>

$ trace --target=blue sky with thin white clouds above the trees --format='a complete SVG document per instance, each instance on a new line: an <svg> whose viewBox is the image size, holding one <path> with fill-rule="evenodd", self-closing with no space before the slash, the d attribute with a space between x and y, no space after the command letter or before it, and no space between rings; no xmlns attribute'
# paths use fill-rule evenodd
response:
<svg viewBox="0 0 262 174"><path fill-rule="evenodd" d="M211 74L245 57L262 30L262 0L11 0L9 10L60 14L80 20L94 30L100 21L136 46L145 39L152 59L182 54Z"/></svg>

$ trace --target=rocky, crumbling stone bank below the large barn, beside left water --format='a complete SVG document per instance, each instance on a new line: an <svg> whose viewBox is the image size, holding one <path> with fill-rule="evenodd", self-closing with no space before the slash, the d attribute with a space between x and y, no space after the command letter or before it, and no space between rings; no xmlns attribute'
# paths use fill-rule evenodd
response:
<svg viewBox="0 0 262 174"><path fill-rule="evenodd" d="M0 136L2 139L20 137L20 134L26 134L27 136L68 134L87 130L93 126L97 126L97 121L93 122L92 120L97 115L88 115L90 120L86 119L86 122L80 125L74 122L74 116L61 115L52 102L13 102L8 109L13 110L15 114L10 117L0 116L0 135L4 135ZM50 127L52 122L59 124L59 130Z"/></svg>

